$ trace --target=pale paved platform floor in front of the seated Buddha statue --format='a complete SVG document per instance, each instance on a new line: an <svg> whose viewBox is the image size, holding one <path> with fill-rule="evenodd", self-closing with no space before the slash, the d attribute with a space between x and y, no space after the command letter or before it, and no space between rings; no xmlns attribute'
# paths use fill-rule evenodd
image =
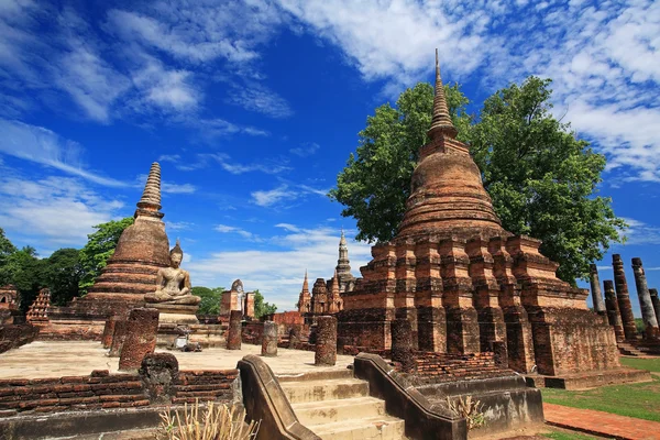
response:
<svg viewBox="0 0 660 440"><path fill-rule="evenodd" d="M261 354L261 345L243 344L241 350L206 349L201 353L156 350L176 355L180 370L227 370L248 354ZM0 378L76 376L92 370L117 373L119 358L108 358L100 342L36 341L0 354ZM276 374L344 370L353 356L337 356L336 366L315 366L314 352L278 349L277 358L262 358Z"/></svg>

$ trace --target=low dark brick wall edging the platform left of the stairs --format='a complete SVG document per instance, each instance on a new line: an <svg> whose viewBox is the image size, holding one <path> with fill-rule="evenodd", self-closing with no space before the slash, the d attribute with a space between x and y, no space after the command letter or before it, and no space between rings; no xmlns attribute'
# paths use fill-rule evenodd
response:
<svg viewBox="0 0 660 440"><path fill-rule="evenodd" d="M233 399L238 370L180 371L167 400L173 404ZM0 381L0 416L16 413L54 413L133 408L152 405L141 374L108 374L94 371L89 376Z"/></svg>

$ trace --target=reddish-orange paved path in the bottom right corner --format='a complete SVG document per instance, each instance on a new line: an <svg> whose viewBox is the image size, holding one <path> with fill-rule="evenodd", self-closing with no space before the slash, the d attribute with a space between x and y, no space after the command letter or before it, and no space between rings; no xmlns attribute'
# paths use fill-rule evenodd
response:
<svg viewBox="0 0 660 440"><path fill-rule="evenodd" d="M601 437L660 440L660 422L617 416L593 409L543 404L546 422Z"/></svg>

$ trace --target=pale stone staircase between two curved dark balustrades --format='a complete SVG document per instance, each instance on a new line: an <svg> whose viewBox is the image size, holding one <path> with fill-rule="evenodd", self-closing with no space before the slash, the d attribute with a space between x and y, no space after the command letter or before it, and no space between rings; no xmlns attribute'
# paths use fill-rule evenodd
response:
<svg viewBox="0 0 660 440"><path fill-rule="evenodd" d="M350 370L278 380L300 424L323 440L406 439L404 420L388 416L385 402L370 397L369 383Z"/></svg>

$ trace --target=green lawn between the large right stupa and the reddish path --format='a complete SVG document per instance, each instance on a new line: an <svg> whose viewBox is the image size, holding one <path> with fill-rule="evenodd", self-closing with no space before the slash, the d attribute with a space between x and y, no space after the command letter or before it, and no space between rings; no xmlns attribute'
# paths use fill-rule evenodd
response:
<svg viewBox="0 0 660 440"><path fill-rule="evenodd" d="M658 376L653 376L653 382L644 384L602 386L585 392L541 388L541 393L543 402L549 404L660 421L660 377Z"/></svg>

